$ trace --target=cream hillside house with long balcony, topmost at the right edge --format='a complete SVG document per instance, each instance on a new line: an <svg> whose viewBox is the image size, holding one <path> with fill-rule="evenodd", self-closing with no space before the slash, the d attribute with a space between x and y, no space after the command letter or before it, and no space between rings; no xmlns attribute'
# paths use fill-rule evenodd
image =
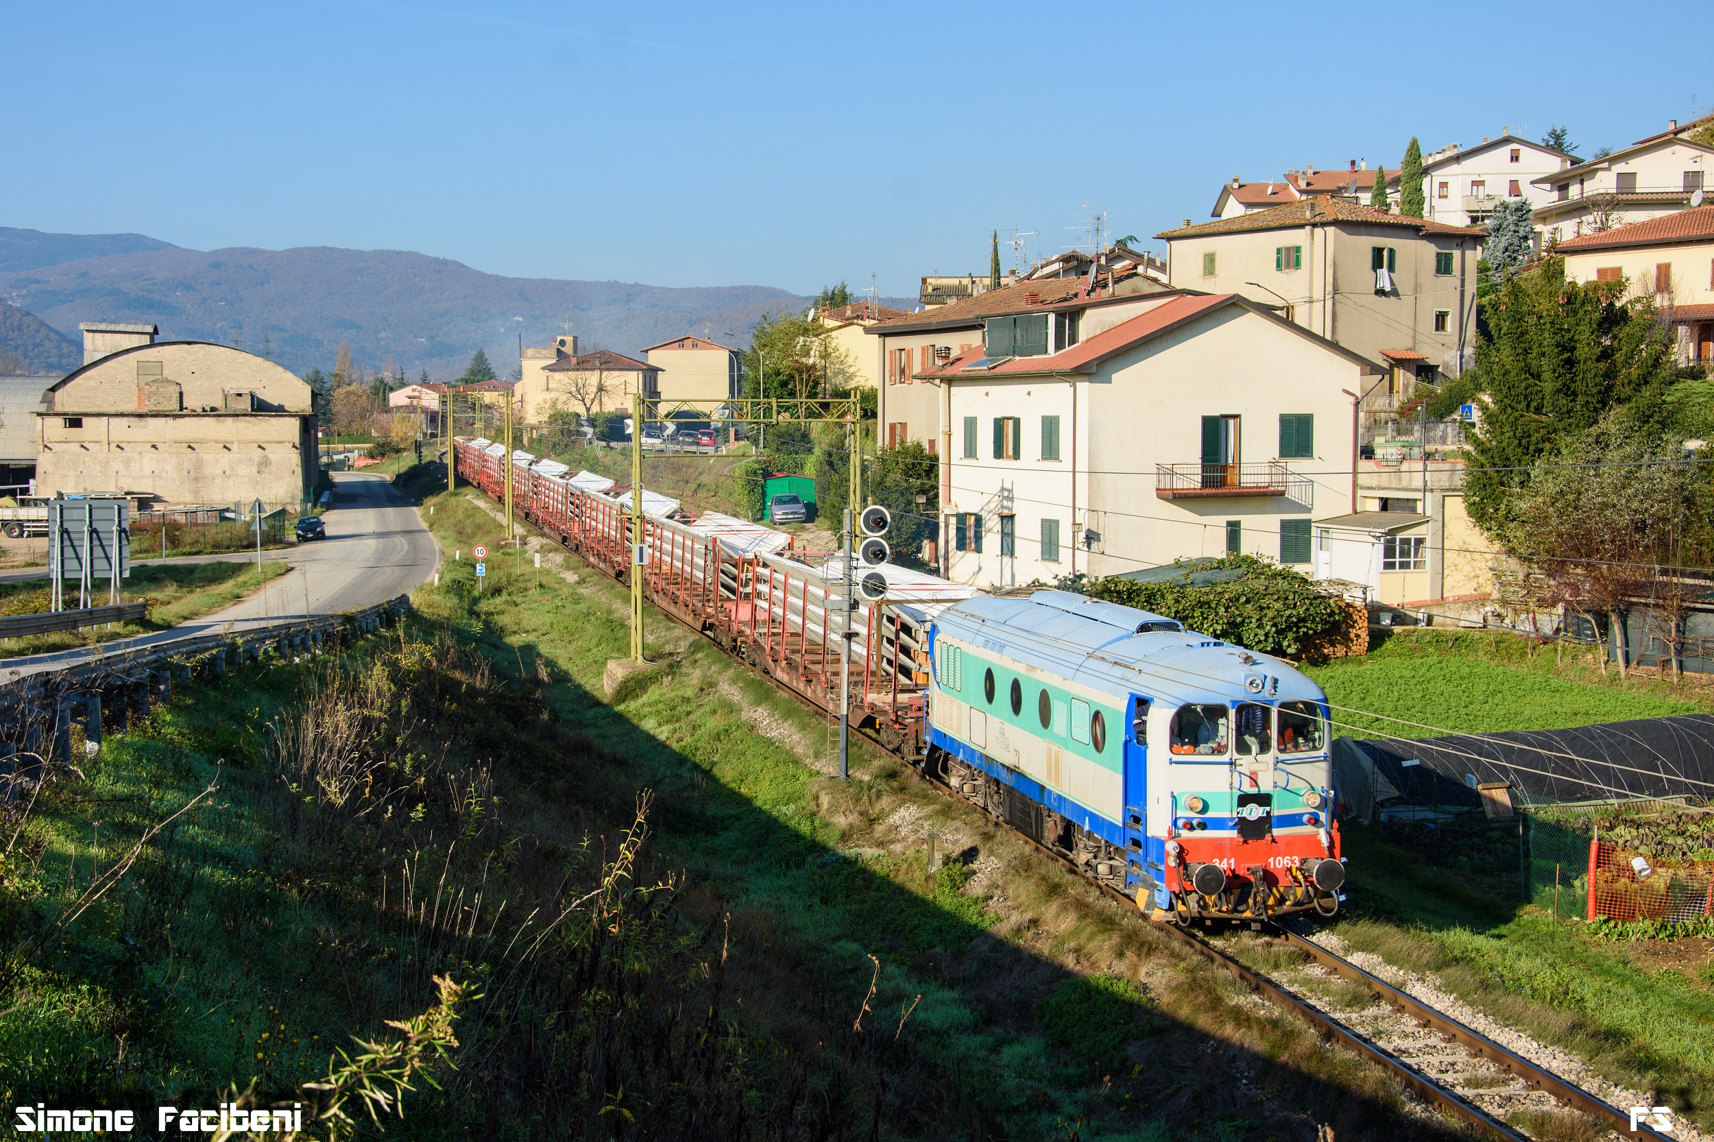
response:
<svg viewBox="0 0 1714 1142"><path fill-rule="evenodd" d="M1548 201L1536 207L1546 245L1585 233L1649 221L1693 206L1714 189L1714 147L1688 135L1714 125L1714 115L1639 139L1597 159L1536 180Z"/></svg>

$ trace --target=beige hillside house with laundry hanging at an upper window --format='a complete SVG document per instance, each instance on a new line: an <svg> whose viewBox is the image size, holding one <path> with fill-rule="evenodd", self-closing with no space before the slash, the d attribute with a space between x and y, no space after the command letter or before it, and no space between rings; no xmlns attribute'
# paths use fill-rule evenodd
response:
<svg viewBox="0 0 1714 1142"><path fill-rule="evenodd" d="M1484 231L1385 214L1328 194L1160 235L1179 290L1241 293L1375 364L1371 408L1474 357Z"/></svg>

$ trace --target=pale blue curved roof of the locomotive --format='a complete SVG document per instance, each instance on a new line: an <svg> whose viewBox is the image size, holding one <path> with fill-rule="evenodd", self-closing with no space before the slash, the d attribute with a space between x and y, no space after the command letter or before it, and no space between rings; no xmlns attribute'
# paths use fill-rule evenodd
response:
<svg viewBox="0 0 1714 1142"><path fill-rule="evenodd" d="M979 595L943 610L934 626L1119 701L1126 694L1169 705L1234 701L1250 696L1246 679L1256 676L1279 679L1279 693L1265 682L1258 700L1327 700L1282 658L1186 631L1166 616L1071 592Z"/></svg>

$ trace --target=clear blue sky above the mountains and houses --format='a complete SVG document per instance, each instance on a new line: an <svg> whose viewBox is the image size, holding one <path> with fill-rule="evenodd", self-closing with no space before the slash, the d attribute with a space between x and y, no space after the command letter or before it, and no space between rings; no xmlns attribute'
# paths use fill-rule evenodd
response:
<svg viewBox="0 0 1714 1142"><path fill-rule="evenodd" d="M0 5L0 225L812 292L1714 101L1697 3ZM1678 29L1676 33L1673 29ZM1155 243L1159 247L1159 243ZM1004 252L1004 250L1003 250ZM1034 250L1032 250L1034 252Z"/></svg>

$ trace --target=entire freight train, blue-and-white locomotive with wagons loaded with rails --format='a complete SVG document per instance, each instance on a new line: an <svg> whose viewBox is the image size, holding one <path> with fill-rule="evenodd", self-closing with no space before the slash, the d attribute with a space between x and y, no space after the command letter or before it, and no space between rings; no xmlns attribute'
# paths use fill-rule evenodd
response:
<svg viewBox="0 0 1714 1142"><path fill-rule="evenodd" d="M848 597L843 556L480 437L456 473L663 614L1155 919L1332 916L1339 854L1327 696L1291 664L1133 607L979 592L896 564ZM867 574L867 569L866 569ZM847 604L850 598L850 604Z"/></svg>

